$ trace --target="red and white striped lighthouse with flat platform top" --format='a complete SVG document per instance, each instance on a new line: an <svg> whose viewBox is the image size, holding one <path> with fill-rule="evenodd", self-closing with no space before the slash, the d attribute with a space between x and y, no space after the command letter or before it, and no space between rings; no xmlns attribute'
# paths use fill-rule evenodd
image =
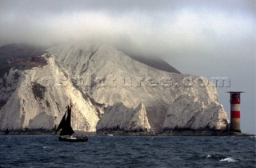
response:
<svg viewBox="0 0 256 168"><path fill-rule="evenodd" d="M230 91L230 130L241 132L240 129L240 94L242 91Z"/></svg>

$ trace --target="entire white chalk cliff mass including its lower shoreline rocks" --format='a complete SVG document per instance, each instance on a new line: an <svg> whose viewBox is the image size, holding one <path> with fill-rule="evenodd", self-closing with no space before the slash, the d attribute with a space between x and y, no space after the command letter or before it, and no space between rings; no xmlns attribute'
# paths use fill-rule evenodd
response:
<svg viewBox="0 0 256 168"><path fill-rule="evenodd" d="M51 57L46 66L10 70L2 78L12 85L1 88L2 130L51 129L70 98L75 130L226 127L226 112L206 78L157 70L106 45L66 44L46 51Z"/></svg>

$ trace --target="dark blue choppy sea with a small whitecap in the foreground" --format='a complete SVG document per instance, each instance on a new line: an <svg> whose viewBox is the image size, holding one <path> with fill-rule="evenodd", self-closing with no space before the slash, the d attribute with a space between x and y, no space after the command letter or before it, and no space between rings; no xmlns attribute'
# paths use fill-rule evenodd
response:
<svg viewBox="0 0 256 168"><path fill-rule="evenodd" d="M256 167L255 136L0 136L0 167Z"/></svg>

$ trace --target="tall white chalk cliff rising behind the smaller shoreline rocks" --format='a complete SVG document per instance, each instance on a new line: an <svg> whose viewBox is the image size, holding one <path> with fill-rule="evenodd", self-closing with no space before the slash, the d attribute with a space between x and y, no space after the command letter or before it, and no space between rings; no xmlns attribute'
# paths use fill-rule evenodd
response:
<svg viewBox="0 0 256 168"><path fill-rule="evenodd" d="M94 101L106 106L122 102L128 108L144 104L154 132L162 131L167 110L182 95L190 94L194 101L202 102L204 106L210 106L212 102L219 105L217 90L206 78L156 70L111 46L66 44L48 51L66 74L82 79L81 89ZM181 115L180 118L184 117ZM219 116L219 119L226 120L226 116Z"/></svg>

